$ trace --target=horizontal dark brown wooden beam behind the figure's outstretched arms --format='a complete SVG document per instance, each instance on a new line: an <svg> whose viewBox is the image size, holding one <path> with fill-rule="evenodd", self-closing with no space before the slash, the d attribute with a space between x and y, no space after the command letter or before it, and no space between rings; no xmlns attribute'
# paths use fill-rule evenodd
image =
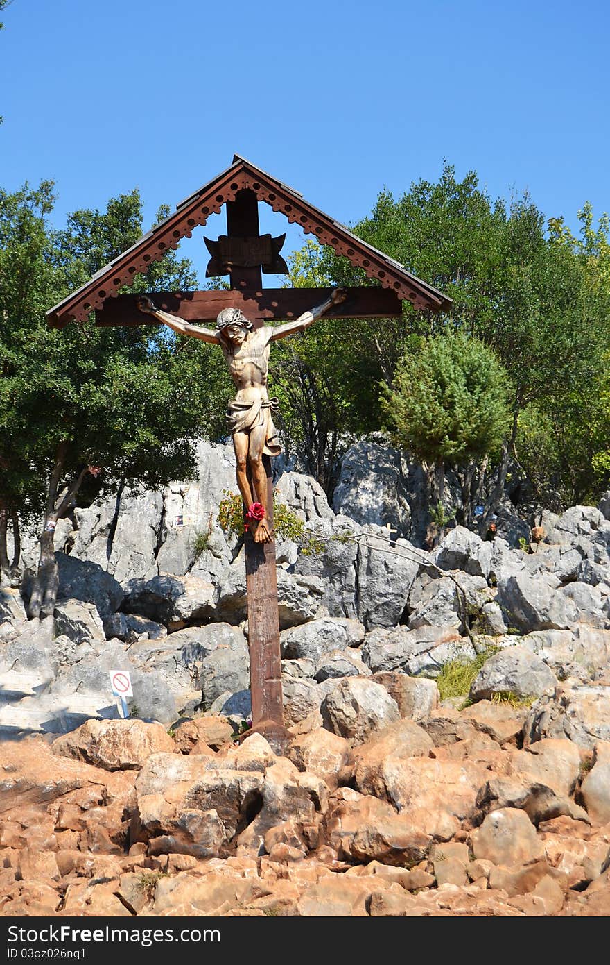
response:
<svg viewBox="0 0 610 965"><path fill-rule="evenodd" d="M289 321L321 305L332 289L259 289L246 291L159 291L150 297L164 312L185 321L209 322L224 308L241 308L251 321ZM402 302L389 289L359 286L347 289L341 305L333 305L325 318L392 318L402 315ZM95 312L97 325L156 324L136 306L138 295L124 294L108 298Z"/></svg>

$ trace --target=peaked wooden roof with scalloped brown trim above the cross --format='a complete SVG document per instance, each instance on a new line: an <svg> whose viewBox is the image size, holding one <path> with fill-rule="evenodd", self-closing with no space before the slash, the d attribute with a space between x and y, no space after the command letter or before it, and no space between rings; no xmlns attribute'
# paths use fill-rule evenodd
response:
<svg viewBox="0 0 610 965"><path fill-rule="evenodd" d="M330 245L338 255L362 268L369 278L377 279L384 288L393 290L415 308L438 312L451 305L450 298L416 278L400 262L388 258L329 214L310 205L294 188L235 154L226 171L185 198L165 221L50 309L46 314L49 324L63 328L71 318L84 321L122 286L128 286L134 275L146 272L151 262L163 258L169 248L176 248L181 238L190 237L193 229L204 225L210 214L220 214L226 202L234 201L237 192L245 188L252 190L258 201L266 202L288 221L300 225L305 234L314 234L321 244Z"/></svg>

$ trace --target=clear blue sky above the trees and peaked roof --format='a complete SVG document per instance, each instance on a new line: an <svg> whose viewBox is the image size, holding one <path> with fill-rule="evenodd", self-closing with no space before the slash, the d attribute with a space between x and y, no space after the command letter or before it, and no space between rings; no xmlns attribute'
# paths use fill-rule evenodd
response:
<svg viewBox="0 0 610 965"><path fill-rule="evenodd" d="M233 152L345 223L443 158L572 226L610 209L603 0L13 0L2 19L0 186L55 179L58 223L136 185L151 221Z"/></svg>

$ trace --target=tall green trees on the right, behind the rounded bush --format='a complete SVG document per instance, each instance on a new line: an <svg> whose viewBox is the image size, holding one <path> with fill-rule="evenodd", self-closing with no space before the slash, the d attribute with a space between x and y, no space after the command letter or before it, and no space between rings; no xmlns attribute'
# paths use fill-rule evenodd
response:
<svg viewBox="0 0 610 965"><path fill-rule="evenodd" d="M587 426L608 347L610 260L604 219L596 230L585 207L581 220L579 239L561 219L551 220L547 231L544 215L527 195L510 206L492 202L474 172L459 180L453 167L445 165L436 183L419 180L397 200L383 191L371 215L353 229L453 299L450 315L415 314L406 306L398 324L373 323L374 339L364 330L361 345L380 363L380 382L387 383L387 370L395 367L413 332L474 335L493 349L509 373L512 421L497 463L488 470L490 495L481 529L501 499L510 457L528 450L518 439L525 407L538 407L563 426L564 441L548 467L546 489L551 475L562 501L591 489L595 454L587 451ZM324 249L320 264L334 284L365 283L359 269L330 249ZM373 405L371 424L378 412ZM602 412L598 416L603 434ZM578 465L586 471L575 471ZM600 456L596 465L601 465Z"/></svg>

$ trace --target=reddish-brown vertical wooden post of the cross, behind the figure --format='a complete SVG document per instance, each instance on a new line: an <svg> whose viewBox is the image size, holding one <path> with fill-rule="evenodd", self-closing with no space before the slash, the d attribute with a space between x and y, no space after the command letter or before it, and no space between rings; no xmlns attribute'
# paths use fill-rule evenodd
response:
<svg viewBox="0 0 610 965"><path fill-rule="evenodd" d="M258 201L253 191L238 191L235 201L227 202L226 234L229 237L255 237L259 234ZM232 289L257 290L262 287L260 265L234 265L230 277ZM269 522L273 526L271 459L267 455L263 459L267 473ZM247 533L245 554L252 729L264 723L273 724L276 729L283 731L276 542L256 543L252 535Z"/></svg>

